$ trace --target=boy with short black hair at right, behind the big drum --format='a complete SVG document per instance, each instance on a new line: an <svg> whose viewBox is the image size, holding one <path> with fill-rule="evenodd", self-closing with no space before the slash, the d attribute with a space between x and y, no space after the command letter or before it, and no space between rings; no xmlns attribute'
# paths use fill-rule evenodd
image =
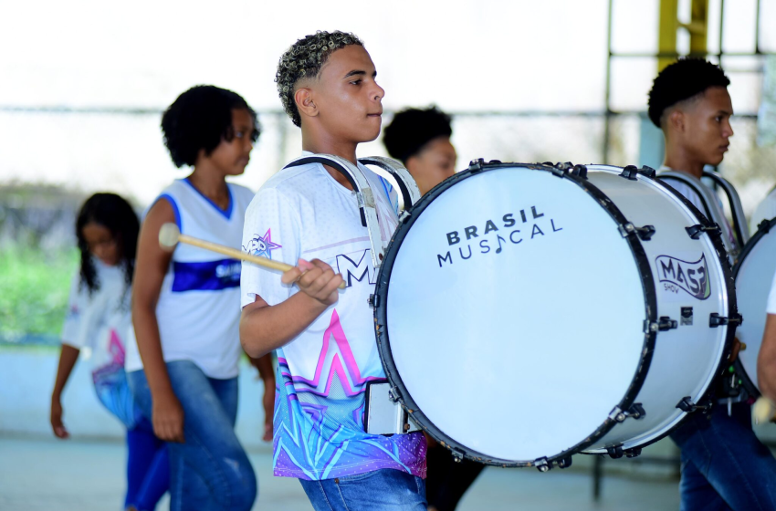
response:
<svg viewBox="0 0 776 511"><path fill-rule="evenodd" d="M699 179L704 165L722 162L733 136L729 83L721 68L698 58L681 58L655 78L649 118L666 137L664 168ZM709 216L697 193L672 186ZM730 410L694 412L671 433L682 452L682 511L776 509L776 460L752 432L750 405Z"/></svg>

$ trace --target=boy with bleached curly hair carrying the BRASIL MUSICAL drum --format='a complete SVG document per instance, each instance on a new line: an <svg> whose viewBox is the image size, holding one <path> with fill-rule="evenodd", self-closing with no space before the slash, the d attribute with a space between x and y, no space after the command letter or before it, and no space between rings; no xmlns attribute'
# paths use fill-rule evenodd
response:
<svg viewBox="0 0 776 511"><path fill-rule="evenodd" d="M376 74L352 34L317 32L288 48L276 81L302 130L302 154L358 164L358 144L380 134L385 92ZM395 193L360 168L392 233ZM317 510L425 510L423 434L363 429L366 382L385 375L366 302L375 276L369 233L352 190L320 163L283 169L261 187L246 212L243 245L297 266L281 282L243 265L240 339L253 357L278 351L275 475L299 478ZM346 271L348 287L339 292Z"/></svg>

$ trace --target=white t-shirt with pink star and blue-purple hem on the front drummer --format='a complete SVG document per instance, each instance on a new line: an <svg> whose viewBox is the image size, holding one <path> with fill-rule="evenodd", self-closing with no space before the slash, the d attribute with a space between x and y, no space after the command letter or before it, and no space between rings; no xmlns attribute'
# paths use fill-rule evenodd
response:
<svg viewBox="0 0 776 511"><path fill-rule="evenodd" d="M360 166L374 194L383 239L397 224L390 184ZM348 286L296 339L278 349L275 474L327 479L393 468L425 477L422 434L363 431L367 381L384 381L367 298L376 272L354 193L320 163L284 169L258 191L246 212L243 250L297 265L318 258ZM260 296L276 306L299 292L280 273L243 263L242 304Z"/></svg>

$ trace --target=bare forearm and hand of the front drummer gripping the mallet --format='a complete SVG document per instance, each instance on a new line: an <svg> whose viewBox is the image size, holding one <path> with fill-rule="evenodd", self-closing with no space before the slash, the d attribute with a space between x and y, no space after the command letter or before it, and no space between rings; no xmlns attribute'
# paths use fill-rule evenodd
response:
<svg viewBox="0 0 776 511"><path fill-rule="evenodd" d="M282 348L337 302L342 276L320 259L299 259L299 266L282 276L286 284L295 282L301 292L270 307L262 297L243 308L240 342L251 357L263 357Z"/></svg>

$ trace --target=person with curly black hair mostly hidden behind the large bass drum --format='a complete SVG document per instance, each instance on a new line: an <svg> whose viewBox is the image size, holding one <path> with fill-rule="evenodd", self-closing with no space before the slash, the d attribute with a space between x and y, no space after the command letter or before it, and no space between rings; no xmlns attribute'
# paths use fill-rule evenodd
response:
<svg viewBox="0 0 776 511"><path fill-rule="evenodd" d="M406 109L393 116L383 132L388 154L404 163L420 193L425 194L456 173L456 148L450 142L453 128L450 116L436 107ZM455 511L469 486L485 468L484 464L453 454L430 436L425 479L429 511Z"/></svg>

